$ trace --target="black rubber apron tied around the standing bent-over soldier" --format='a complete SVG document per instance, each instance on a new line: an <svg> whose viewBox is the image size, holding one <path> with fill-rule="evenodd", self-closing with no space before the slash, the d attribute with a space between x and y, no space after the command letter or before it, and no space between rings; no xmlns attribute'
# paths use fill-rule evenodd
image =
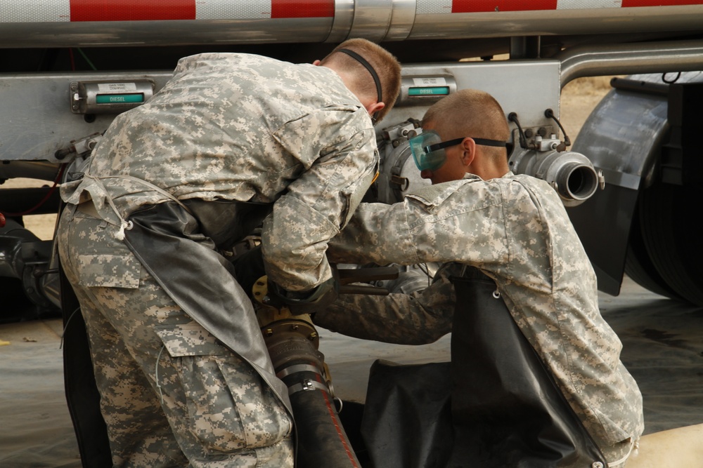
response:
<svg viewBox="0 0 703 468"><path fill-rule="evenodd" d="M107 190L96 178L92 184ZM109 197L110 208L119 216L124 243L166 293L191 318L226 347L250 363L283 402L292 417L288 389L273 371L252 303L235 279L231 262L217 252L244 239L257 227L272 205L240 201L180 201L144 180L138 182L167 196L170 201L148 205L122 218Z"/></svg>

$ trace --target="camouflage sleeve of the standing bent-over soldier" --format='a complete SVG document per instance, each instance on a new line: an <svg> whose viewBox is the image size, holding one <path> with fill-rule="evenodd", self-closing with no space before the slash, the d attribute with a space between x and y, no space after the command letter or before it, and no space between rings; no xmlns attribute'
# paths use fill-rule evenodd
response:
<svg viewBox="0 0 703 468"><path fill-rule="evenodd" d="M266 273L286 290L330 279L328 241L347 225L378 169L375 133L359 112L308 116L276 133L306 168L274 203L262 230Z"/></svg>

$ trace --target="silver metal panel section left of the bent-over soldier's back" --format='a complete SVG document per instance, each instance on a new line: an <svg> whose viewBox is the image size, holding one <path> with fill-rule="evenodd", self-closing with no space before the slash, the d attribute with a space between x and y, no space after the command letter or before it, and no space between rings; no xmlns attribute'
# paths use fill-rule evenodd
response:
<svg viewBox="0 0 703 468"><path fill-rule="evenodd" d="M171 70L0 75L0 161L59 162L57 152L70 147L72 140L104 132L115 115L127 109L108 104L107 107L114 107L111 112L93 113L98 105L98 83L105 83L103 88L110 83L135 83L124 84L121 92L113 94L124 98L127 91L136 90L148 98L151 91L158 91L171 76ZM77 83L87 83L91 98L91 102L86 100L84 113L80 114L72 109Z"/></svg>

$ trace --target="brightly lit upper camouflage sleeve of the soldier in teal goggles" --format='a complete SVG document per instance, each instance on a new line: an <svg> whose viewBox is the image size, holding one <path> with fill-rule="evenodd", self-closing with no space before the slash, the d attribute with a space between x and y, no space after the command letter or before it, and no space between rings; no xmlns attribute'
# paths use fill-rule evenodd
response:
<svg viewBox="0 0 703 468"><path fill-rule="evenodd" d="M427 187L392 205L361 203L330 242L328 258L358 265L506 265L510 254L501 196L484 185L457 181Z"/></svg>

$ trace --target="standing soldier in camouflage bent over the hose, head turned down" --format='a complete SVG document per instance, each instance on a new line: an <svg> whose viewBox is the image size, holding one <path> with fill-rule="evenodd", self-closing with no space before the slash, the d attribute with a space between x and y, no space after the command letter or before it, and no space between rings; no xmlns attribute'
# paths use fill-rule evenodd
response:
<svg viewBox="0 0 703 468"><path fill-rule="evenodd" d="M62 187L60 260L115 467L293 465L288 392L222 250L266 217L271 280L327 288L327 242L377 172L370 116L399 86L396 59L362 39L311 65L186 57Z"/></svg>

